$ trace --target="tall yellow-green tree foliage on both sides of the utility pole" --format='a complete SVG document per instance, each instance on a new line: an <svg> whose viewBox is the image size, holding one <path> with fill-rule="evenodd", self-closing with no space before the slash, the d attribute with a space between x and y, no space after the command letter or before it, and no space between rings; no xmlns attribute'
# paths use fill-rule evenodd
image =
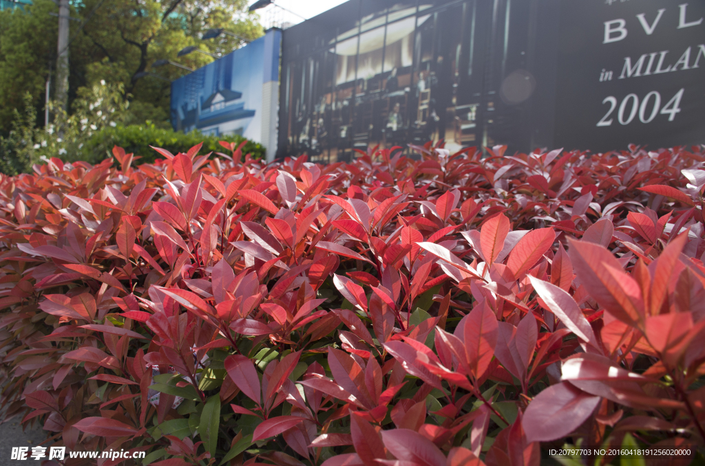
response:
<svg viewBox="0 0 705 466"><path fill-rule="evenodd" d="M57 9L51 0L35 0L25 11L0 13L1 132L11 127L14 109L24 108L27 92L35 108L43 109L49 65L56 69L57 20L51 13ZM229 36L201 41L202 32L212 27L248 39L263 33L257 15L247 13L247 0L78 0L72 2L71 16L80 22L71 21L69 100L77 98L81 87L100 80L121 84L130 95L133 119L161 125L168 125L170 86L141 73L174 80L185 71L171 66L152 70L154 61L176 60L178 51L189 45L216 54L240 45ZM179 61L199 68L212 58L191 53Z"/></svg>

